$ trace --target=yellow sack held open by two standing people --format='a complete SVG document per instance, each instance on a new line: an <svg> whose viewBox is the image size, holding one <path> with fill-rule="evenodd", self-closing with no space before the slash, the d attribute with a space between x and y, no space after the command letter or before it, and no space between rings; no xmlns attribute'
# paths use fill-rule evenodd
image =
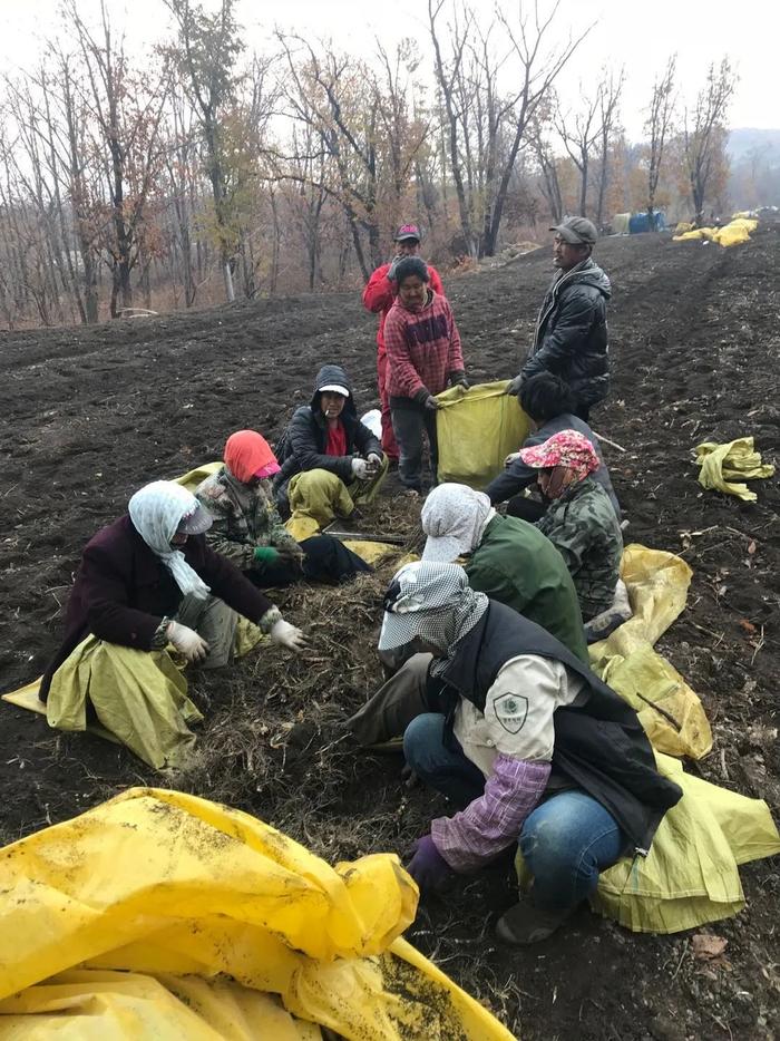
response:
<svg viewBox="0 0 780 1041"><path fill-rule="evenodd" d="M439 480L481 489L504 469L510 451L528 437L530 420L507 395L507 380L478 383L464 392L452 387L438 395L436 414Z"/></svg>

